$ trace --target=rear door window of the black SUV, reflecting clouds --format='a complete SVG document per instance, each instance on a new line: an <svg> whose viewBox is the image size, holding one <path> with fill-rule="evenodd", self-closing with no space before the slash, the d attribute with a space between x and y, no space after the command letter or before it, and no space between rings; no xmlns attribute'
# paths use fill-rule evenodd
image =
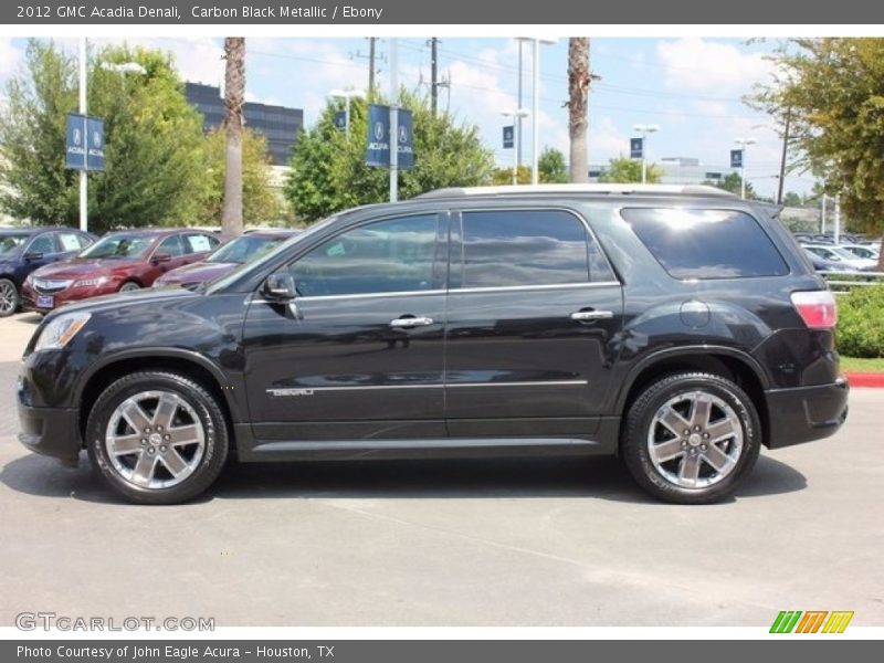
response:
<svg viewBox="0 0 884 663"><path fill-rule="evenodd" d="M519 287L613 281L586 225L565 210L467 211L461 287Z"/></svg>

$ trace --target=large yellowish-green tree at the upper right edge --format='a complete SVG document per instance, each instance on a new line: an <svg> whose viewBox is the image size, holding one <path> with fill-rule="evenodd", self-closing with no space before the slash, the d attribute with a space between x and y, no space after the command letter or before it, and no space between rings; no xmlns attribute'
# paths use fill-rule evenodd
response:
<svg viewBox="0 0 884 663"><path fill-rule="evenodd" d="M884 231L884 39L794 39L772 55L783 75L748 99L791 114L792 169L824 180L861 230ZM884 253L882 264L884 269Z"/></svg>

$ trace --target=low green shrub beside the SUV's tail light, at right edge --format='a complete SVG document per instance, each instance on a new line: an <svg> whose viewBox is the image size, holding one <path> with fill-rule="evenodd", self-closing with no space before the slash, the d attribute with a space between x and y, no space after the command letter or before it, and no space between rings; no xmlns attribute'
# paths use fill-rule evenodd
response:
<svg viewBox="0 0 884 663"><path fill-rule="evenodd" d="M838 297L838 351L884 357L884 285L854 287Z"/></svg>

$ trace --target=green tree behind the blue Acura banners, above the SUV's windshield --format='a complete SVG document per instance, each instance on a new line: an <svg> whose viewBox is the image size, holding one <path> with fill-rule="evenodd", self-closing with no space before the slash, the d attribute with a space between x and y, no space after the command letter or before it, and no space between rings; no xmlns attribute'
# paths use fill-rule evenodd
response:
<svg viewBox="0 0 884 663"><path fill-rule="evenodd" d="M469 187L491 180L492 155L482 147L475 126L459 125L445 113L434 117L425 97L408 92L400 94L400 105L413 114L415 155L414 169L399 171L401 199L442 187ZM336 104L326 106L317 124L301 134L292 156L285 196L295 213L306 220L388 200L388 170L365 162L366 102L351 101L349 133L335 126L338 109Z"/></svg>

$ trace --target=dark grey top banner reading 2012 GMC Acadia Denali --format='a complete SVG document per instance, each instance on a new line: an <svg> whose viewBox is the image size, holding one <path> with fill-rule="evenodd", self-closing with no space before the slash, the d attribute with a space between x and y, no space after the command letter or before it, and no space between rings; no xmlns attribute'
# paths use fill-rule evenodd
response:
<svg viewBox="0 0 884 663"><path fill-rule="evenodd" d="M840 0L11 0L0 4L0 23L65 24L813 24L884 23L884 3Z"/></svg>

